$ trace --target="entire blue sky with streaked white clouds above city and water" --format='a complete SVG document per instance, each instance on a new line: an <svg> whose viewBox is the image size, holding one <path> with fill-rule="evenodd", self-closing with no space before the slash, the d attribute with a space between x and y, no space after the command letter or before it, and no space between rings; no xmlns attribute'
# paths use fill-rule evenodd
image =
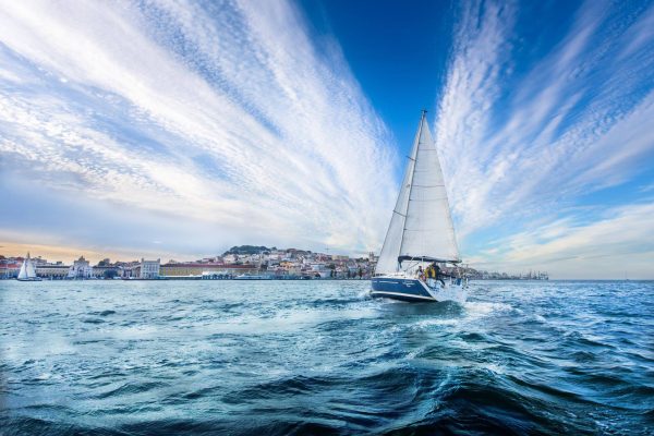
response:
<svg viewBox="0 0 654 436"><path fill-rule="evenodd" d="M8 2L0 252L379 251L420 117L471 265L654 278L654 4Z"/></svg>

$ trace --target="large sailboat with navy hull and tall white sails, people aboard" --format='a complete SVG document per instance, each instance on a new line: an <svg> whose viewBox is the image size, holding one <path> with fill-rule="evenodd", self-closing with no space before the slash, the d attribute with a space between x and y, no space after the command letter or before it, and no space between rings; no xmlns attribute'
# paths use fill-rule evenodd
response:
<svg viewBox="0 0 654 436"><path fill-rule="evenodd" d="M460 263L443 171L423 110L371 294L413 302L464 302L468 279L460 274ZM426 278L422 270L431 265L449 272Z"/></svg>

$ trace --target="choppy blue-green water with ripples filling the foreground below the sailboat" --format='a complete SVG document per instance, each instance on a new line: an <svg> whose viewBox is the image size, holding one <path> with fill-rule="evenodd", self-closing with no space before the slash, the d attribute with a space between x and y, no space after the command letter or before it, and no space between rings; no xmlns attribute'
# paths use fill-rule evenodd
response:
<svg viewBox="0 0 654 436"><path fill-rule="evenodd" d="M0 434L654 434L653 282L0 281Z"/></svg>

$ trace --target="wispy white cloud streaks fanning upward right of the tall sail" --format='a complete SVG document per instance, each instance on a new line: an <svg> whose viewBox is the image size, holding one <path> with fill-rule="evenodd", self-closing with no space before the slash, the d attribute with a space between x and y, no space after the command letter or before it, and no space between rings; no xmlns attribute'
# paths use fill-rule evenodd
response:
<svg viewBox="0 0 654 436"><path fill-rule="evenodd" d="M654 157L654 7L589 1L562 38L538 43L535 61L518 14L514 3L463 7L438 105L436 141L464 241L507 222L566 222L565 206L629 182Z"/></svg>

